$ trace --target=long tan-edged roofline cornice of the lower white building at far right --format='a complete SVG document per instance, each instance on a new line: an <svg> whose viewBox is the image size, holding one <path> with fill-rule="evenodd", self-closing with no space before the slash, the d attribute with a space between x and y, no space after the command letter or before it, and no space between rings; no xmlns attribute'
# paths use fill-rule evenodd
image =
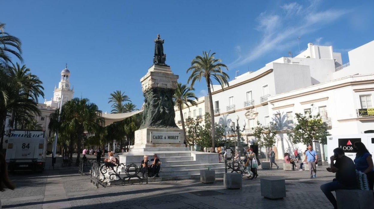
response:
<svg viewBox="0 0 374 209"><path fill-rule="evenodd" d="M308 91L308 92L298 93L298 94L291 95L291 96L285 96L285 97L282 97L282 98L279 98L279 99L269 100L269 102L271 102L271 103L280 102L280 101L287 100L287 99L293 99L293 98L297 98L297 97L301 97L301 96L307 96L307 95L310 95L310 94L324 92L324 91L332 90L332 89L338 89L338 88L342 88L342 87L346 87L346 86L356 86L356 85L373 84L373 83L374 83L374 80L361 80L361 81L341 83L341 84L337 84L337 85L334 85L334 86L329 86L329 87L325 87L325 88L321 88L321 89L311 90L311 91Z"/></svg>

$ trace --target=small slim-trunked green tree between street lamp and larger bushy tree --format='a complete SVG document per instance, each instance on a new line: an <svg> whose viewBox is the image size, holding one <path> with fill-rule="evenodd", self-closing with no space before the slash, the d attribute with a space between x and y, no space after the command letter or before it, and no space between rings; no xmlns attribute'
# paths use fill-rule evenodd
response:
<svg viewBox="0 0 374 209"><path fill-rule="evenodd" d="M265 156L266 161L269 160L269 156L267 155L267 150L269 147L273 147L275 145L275 137L277 135L277 131L275 129L274 123L270 122L269 126L263 126L259 121L257 121L257 126L252 127L253 136L256 137L258 140L258 147L260 148L260 156L261 156L261 147L265 147Z"/></svg>

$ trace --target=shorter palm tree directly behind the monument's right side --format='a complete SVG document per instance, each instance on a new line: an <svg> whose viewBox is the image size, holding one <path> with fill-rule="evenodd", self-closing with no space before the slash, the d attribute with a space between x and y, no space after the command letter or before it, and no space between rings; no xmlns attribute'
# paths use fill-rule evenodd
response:
<svg viewBox="0 0 374 209"><path fill-rule="evenodd" d="M196 99L197 101L197 97L193 92L191 92L192 90L195 89L187 87L186 84L182 85L182 83L177 83L177 89L175 89L175 93L173 95L174 104L178 107L179 113L181 115L182 129L184 134L184 144L186 144L186 128L184 127L182 107L186 105L188 109L190 109L190 106L192 105L197 106L197 103L193 100Z"/></svg>

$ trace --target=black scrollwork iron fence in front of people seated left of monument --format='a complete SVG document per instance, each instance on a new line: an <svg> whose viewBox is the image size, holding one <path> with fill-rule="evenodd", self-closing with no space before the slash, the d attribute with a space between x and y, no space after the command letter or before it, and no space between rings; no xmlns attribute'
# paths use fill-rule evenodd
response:
<svg viewBox="0 0 374 209"><path fill-rule="evenodd" d="M141 169L140 163L91 162L91 183L107 187L108 184L148 184L148 167Z"/></svg>

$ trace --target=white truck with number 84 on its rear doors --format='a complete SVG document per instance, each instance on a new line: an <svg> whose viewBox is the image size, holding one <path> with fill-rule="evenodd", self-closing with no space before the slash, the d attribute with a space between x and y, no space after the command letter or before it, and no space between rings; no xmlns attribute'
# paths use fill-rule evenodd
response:
<svg viewBox="0 0 374 209"><path fill-rule="evenodd" d="M8 170L42 172L45 167L46 138L44 130L10 130L6 149Z"/></svg>

